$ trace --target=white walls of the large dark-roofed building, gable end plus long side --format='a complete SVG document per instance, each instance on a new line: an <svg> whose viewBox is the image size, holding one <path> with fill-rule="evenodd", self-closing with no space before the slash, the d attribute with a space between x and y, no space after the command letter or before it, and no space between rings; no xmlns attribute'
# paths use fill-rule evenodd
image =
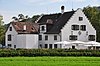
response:
<svg viewBox="0 0 100 66"><path fill-rule="evenodd" d="M79 21L79 17L82 17L82 20ZM72 25L79 25L79 30L72 30ZM80 30L80 26L85 25L86 30L82 31ZM46 26L45 26L46 27ZM40 27L41 29L41 27ZM46 29L46 28L45 28ZM40 32L42 32L40 30ZM81 9L78 9L72 16L71 18L66 22L64 27L61 29L61 33L56 34L58 39L57 41L54 40L54 35L55 34L41 34L42 35L42 40L39 41L39 44L42 44L42 48L45 47L45 44L52 44L54 48L54 43L59 42L59 41L75 41L75 40L70 40L69 36L70 35L76 35L78 41L83 41L83 42L88 42L89 41L89 35L94 35L96 41L96 30L92 26L92 24L89 22L88 18L85 16L85 14L82 12ZM45 35L48 36L48 40L45 40ZM58 44L59 45L59 44ZM76 49L88 49L88 47L83 46L83 45L62 45L62 48L72 48L72 46L75 46ZM48 46L49 48L49 46ZM60 48L60 46L58 47Z"/></svg>

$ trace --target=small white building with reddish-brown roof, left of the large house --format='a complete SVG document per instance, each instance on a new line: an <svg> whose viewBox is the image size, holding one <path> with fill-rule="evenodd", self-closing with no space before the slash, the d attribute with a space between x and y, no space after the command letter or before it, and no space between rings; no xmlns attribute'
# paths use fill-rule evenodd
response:
<svg viewBox="0 0 100 66"><path fill-rule="evenodd" d="M38 48L38 25L30 22L11 22L6 31L9 48Z"/></svg>

